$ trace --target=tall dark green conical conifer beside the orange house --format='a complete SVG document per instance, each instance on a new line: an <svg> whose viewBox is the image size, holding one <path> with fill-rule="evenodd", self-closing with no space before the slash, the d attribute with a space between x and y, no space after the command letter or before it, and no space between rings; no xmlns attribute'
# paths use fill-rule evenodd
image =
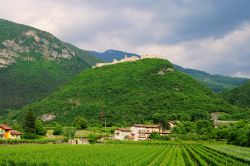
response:
<svg viewBox="0 0 250 166"><path fill-rule="evenodd" d="M35 133L36 118L31 109L28 109L26 112L26 115L23 119L22 128L25 133Z"/></svg>

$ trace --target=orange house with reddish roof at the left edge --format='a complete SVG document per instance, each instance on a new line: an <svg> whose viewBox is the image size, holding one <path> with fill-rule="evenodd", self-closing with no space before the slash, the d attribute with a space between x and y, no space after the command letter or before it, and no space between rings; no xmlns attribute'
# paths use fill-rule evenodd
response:
<svg viewBox="0 0 250 166"><path fill-rule="evenodd" d="M0 139L20 139L22 133L12 130L7 125L0 125Z"/></svg>

